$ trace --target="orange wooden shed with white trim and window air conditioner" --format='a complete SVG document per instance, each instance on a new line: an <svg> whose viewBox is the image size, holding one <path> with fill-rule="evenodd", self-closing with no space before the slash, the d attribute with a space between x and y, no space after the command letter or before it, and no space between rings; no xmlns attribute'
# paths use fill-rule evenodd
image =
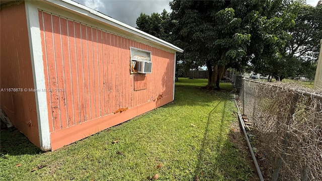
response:
<svg viewBox="0 0 322 181"><path fill-rule="evenodd" d="M182 51L73 1L1 1L1 108L55 150L172 102Z"/></svg>

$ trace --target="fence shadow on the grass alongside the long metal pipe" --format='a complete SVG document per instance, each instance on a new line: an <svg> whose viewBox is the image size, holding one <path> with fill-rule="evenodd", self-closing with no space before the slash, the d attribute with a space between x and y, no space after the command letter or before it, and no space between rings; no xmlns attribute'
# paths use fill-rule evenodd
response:
<svg viewBox="0 0 322 181"><path fill-rule="evenodd" d="M224 129L227 127L227 120L225 120L227 101L227 99L220 101L208 114L194 171L195 180L249 180L249 176L253 174L251 167L245 164L239 149L226 139L228 133ZM223 110L220 113L221 117L217 118L217 120L220 119L216 128L219 134L213 135L211 129L214 124L218 124L218 121L214 122L212 114L218 114L216 111L220 104L223 104Z"/></svg>

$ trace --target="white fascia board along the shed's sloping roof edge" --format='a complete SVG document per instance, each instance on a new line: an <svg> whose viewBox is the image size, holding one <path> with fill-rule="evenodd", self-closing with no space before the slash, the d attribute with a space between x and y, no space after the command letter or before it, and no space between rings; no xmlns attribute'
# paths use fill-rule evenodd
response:
<svg viewBox="0 0 322 181"><path fill-rule="evenodd" d="M177 52L183 52L183 49L169 43L169 42L166 42L164 40L161 40L159 38L156 38L150 34L147 34L145 32L142 32L141 30L138 30L136 28L133 28L125 23L122 23L120 21L117 21L109 16L106 16L96 10L93 10L89 7L86 7L84 5L81 5L81 4L78 4L76 2L73 2L73 1L70 1L70 0L61 0L61 1L57 1L57 0L45 0L47 2L50 2L52 4L55 4L55 5L58 5L58 6L61 6L63 8L67 8L69 10L72 10L74 12L77 12L79 14L83 14L83 15L86 15L88 17L91 17L91 18L94 18L96 20L99 20L101 22L104 22L108 25L112 25L114 27L117 27L119 29L122 29L124 31L127 31L129 33L132 33L134 35L137 35L137 36L140 36L142 38L145 38L147 40L150 40L152 42L155 42L155 43L158 43L160 45L163 45L163 46L166 46L168 48L171 48Z"/></svg>

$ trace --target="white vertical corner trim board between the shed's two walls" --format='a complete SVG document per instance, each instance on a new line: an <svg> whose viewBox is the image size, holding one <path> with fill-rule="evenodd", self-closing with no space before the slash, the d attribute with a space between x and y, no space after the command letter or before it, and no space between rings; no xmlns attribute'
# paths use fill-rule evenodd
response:
<svg viewBox="0 0 322 181"><path fill-rule="evenodd" d="M48 122L47 94L46 91L43 91L46 89L46 84L42 59L38 9L29 1L25 1L25 9L34 87L37 90L41 90L35 91L40 149L48 151L51 149L51 143Z"/></svg>

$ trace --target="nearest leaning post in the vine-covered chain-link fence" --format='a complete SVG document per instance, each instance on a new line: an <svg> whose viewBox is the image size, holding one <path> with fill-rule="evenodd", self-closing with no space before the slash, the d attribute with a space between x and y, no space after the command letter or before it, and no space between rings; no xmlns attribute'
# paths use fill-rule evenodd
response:
<svg viewBox="0 0 322 181"><path fill-rule="evenodd" d="M296 93L295 93L296 94ZM289 114L288 114L288 117L287 117L287 127L285 130L285 133L282 137L282 153L281 155L277 158L277 160L275 161L275 165L274 165L274 170L273 170L273 175L272 175L272 181L277 181L278 180L278 174L280 172L280 169L282 167L282 161L283 159L285 158L285 152L286 152L286 149L288 147L288 144L289 144L289 137L290 137L290 134L288 133L288 129L290 127L290 124L292 122L292 119L293 119L293 115L295 113L295 109L296 109L296 104L297 104L297 100L299 98L299 95L294 95L293 96L293 99L291 100L291 105L290 105L290 109L289 109Z"/></svg>

